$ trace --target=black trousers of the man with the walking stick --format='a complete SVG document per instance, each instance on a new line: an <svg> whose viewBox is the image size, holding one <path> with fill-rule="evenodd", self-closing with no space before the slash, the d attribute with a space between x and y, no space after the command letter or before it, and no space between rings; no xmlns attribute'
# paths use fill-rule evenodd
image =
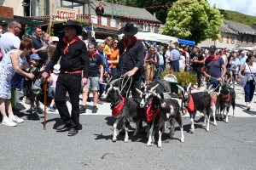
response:
<svg viewBox="0 0 256 170"><path fill-rule="evenodd" d="M55 105L58 108L64 124L72 128L79 128L79 93L81 88L81 74L60 73L56 82ZM67 109L66 94L72 105L71 116Z"/></svg>

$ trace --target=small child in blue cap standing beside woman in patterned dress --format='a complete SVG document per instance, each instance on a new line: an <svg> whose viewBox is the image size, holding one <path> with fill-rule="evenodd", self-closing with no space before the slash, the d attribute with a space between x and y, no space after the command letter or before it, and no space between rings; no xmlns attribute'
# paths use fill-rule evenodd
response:
<svg viewBox="0 0 256 170"><path fill-rule="evenodd" d="M27 81L27 86L29 87L29 94L30 94L30 106L31 106L31 115L38 116L37 113L43 114L44 111L40 108L40 94L42 93L42 88L40 85L40 72L44 71L45 65L43 65L40 69L37 67L39 64L40 57L38 54L32 54L30 56L30 69L31 72L35 77L32 80ZM37 109L34 107L34 102L36 101Z"/></svg>

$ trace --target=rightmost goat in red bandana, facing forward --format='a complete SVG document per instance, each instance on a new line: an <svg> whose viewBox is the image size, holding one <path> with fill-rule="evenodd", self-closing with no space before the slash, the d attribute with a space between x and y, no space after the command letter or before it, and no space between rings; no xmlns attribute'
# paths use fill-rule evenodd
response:
<svg viewBox="0 0 256 170"><path fill-rule="evenodd" d="M224 119L224 111L226 108L226 119L224 122L229 122L229 111L230 105L233 107L233 116L235 116L235 105L236 105L236 92L235 87L230 88L232 84L230 84L230 79L227 82L224 82L224 79L220 82L221 90L218 94L217 99L217 110L218 110L218 120L220 120L219 116L221 114L221 118ZM220 112L220 113L219 113Z"/></svg>

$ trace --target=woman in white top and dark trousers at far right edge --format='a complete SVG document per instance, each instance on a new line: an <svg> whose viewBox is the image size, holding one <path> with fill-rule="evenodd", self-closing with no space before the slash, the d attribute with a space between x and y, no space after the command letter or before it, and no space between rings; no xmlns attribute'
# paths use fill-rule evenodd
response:
<svg viewBox="0 0 256 170"><path fill-rule="evenodd" d="M243 75L241 75L243 72ZM247 83L244 86L245 102L247 104L247 111L252 109L251 102L253 100L253 94L256 84L256 63L254 63L254 56L250 54L247 57L247 62L241 66L240 71L238 72L239 77L246 77ZM255 80L255 81L254 81Z"/></svg>

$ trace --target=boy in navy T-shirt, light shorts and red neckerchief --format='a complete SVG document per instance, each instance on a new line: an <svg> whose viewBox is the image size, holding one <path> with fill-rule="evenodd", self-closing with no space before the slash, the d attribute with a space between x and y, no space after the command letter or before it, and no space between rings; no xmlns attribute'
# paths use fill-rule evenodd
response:
<svg viewBox="0 0 256 170"><path fill-rule="evenodd" d="M93 108L91 113L96 113L98 108L96 107L98 99L98 86L102 82L103 77L103 65L102 57L96 52L96 43L88 44L88 55L89 55L89 69L88 69L88 83L83 88L83 101L82 106L80 107L80 113L86 112L86 100L87 94L91 85L91 91L93 94ZM99 76L99 67L101 68L101 73Z"/></svg>

